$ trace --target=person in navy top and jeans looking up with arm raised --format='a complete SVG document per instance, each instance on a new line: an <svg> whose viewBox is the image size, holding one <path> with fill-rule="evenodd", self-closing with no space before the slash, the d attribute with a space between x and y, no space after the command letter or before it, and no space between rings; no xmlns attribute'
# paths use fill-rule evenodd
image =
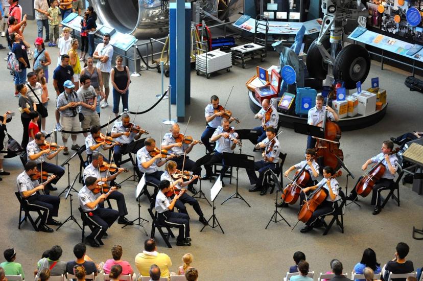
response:
<svg viewBox="0 0 423 281"><path fill-rule="evenodd" d="M16 59L19 61L20 72L15 73L15 97L19 97L17 85L25 84L27 80L27 68L31 68L29 63L27 49L30 48L30 44L24 41L22 36L14 32L10 35L12 39L12 52L15 53Z"/></svg>

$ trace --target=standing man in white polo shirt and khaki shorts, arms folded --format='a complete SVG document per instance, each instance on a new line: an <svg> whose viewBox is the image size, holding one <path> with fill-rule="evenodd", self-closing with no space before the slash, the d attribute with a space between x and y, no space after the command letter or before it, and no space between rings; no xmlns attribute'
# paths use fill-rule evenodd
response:
<svg viewBox="0 0 423 281"><path fill-rule="evenodd" d="M107 98L109 97L110 88L110 71L111 71L111 58L113 57L113 46L109 44L110 34L105 33L103 35L103 43L97 45L96 51L93 54L93 58L97 59L97 67L100 68L105 98L101 105L102 108L109 106Z"/></svg>

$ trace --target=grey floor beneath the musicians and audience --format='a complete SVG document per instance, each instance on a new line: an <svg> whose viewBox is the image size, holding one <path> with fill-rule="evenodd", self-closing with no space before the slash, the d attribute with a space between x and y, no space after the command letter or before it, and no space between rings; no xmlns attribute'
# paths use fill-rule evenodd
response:
<svg viewBox="0 0 423 281"><path fill-rule="evenodd" d="M34 42L36 33L35 22L31 21L25 30L25 36L29 42ZM2 39L2 41L5 41ZM56 61L58 50L47 48ZM0 57L6 57L5 50L0 51ZM204 107L212 95L218 95L224 103L229 95L230 88L234 86L232 96L227 103L227 108L232 110L233 115L241 119L238 129L246 129L257 126L257 121L253 119L254 113L248 106L247 89L245 82L254 75L255 66L261 65L269 67L277 64L278 57L274 52L269 52L266 61L261 63L254 60L247 63L246 69L239 65L232 67L230 73L225 71L213 75L210 79L204 76L197 76L191 72L191 105L186 108L186 117L191 116L190 126L186 133L199 138L204 129ZM5 64L4 64L5 65ZM139 105L139 110L145 110L156 102L155 95L160 93L160 75L155 70L143 71L142 76L133 78L130 86L130 110L135 111ZM53 67L50 68L50 76L53 75ZM409 73L385 66L381 71L380 65L373 62L369 79L365 81L363 89L369 87L369 80L372 77L380 78L380 85L387 89L389 107L385 118L368 128L343 132L341 138L341 148L344 152L345 163L353 174L358 177L362 174L361 165L369 157L379 153L381 142L389 139L390 136L397 136L403 132L420 130L423 117L421 106L423 95L419 92L411 92L404 85L405 78ZM0 104L0 112L5 110L17 111L17 99L13 97L13 82L6 67L0 69L0 83L4 85L2 89L3 102ZM165 87L168 79L165 80ZM54 101L54 90L52 83L49 84L49 91ZM47 120L47 128L54 126L54 103L49 105L51 116ZM111 101L111 99L110 99ZM172 108L172 118L175 118L174 106ZM102 110L101 123L104 124L109 118L111 107ZM168 100L163 100L153 110L143 115L138 115L136 123L147 129L151 136L159 140L160 129L163 132L169 130L169 126L162 125L161 121L167 119ZM185 130L185 123L181 123L182 131ZM8 132L20 141L22 126L19 116L15 116L11 123L8 123ZM297 163L303 158L303 150L307 143L304 135L296 134L292 129L284 128L284 133L279 136L282 151L287 153L285 169ZM60 141L59 141L60 143ZM83 144L83 137L78 136L78 143ZM243 153L254 155L257 159L260 153L252 152L253 146L245 142ZM196 146L190 153L194 160L204 155L204 148ZM66 159L59 155L59 163ZM71 160L70 180L79 171L79 159ZM32 277L32 270L36 267L36 262L45 249L53 245L61 245L63 248L62 260L73 259L73 246L81 240L81 230L78 226L69 222L59 231L54 233L35 232L32 227L25 223L20 230L17 229L18 202L14 196L16 191L16 176L22 171L19 158L7 159L4 162L5 170L11 172L10 176L4 176L0 182L0 205L2 206L2 225L0 228L0 249L14 247L17 251L17 262L23 265L27 279ZM131 169L130 165L127 166ZM67 171L66 171L67 172ZM119 180L123 180L122 175ZM339 182L345 190L345 176ZM311 269L318 276L319 272L329 269L329 263L337 258L344 264L345 272L350 274L354 265L360 261L365 248L371 247L378 256L378 261L385 264L391 260L395 252L396 243L403 241L410 245L411 251L408 256L414 262L415 267L423 265L422 242L411 238L412 227L421 227L423 222L422 197L411 191L410 185L401 185L401 207L397 207L393 202L389 202L383 212L378 216L372 216L373 207L370 206L370 197L360 199L361 207L351 205L346 209L344 216L345 233L341 233L337 227L333 227L327 236L322 236L322 230L317 229L310 233L300 233L303 227L299 223L294 230L285 223L271 224L267 230L265 226L269 221L273 210L275 194L259 196L257 193L248 193L250 188L247 175L244 170L239 171L239 192L251 204L248 207L243 201L233 199L221 205L220 203L229 197L235 190L235 179L232 184L228 184L216 199L216 215L219 219L225 234L219 229L207 227L200 232L202 225L197 221L194 210L188 207L191 214L191 237L193 239L191 247L177 247L172 249L165 247L161 238L157 237L158 248L161 252L170 255L173 266L172 271L177 271L182 264L182 255L191 252L194 255L193 266L199 269L201 280L274 280L281 279L293 264L292 255L295 251L301 250L306 253ZM355 180L350 180L348 190L352 188ZM57 184L59 191L63 190L67 184L67 175ZM129 219L137 216L137 202L135 201L135 186L137 182L126 181L121 192L126 197L129 209ZM209 189L212 183L205 181L202 189L209 198ZM74 186L77 190L80 184ZM55 193L53 193L55 194ZM57 194L57 192L56 192ZM75 198L75 197L74 197ZM77 201L73 202L74 215L80 222ZM204 200L200 200L200 205L205 216L212 215L212 208ZM147 213L148 202L144 198L141 201L141 215L150 220ZM297 222L297 205L281 210L281 214L293 226ZM70 214L69 199L61 198L59 220L64 221ZM150 220L151 221L151 220ZM147 231L150 232L151 222L146 224ZM115 224L108 231L109 237L104 239L105 245L98 249L88 246L87 254L93 260L100 262L111 257L110 249L114 244L121 244L124 249L123 259L128 260L134 266L135 255L143 250L143 242L147 238L142 229L138 227L127 227L121 229ZM174 245L175 242L172 242ZM315 275L316 276L316 275ZM317 279L317 277L315 278Z"/></svg>

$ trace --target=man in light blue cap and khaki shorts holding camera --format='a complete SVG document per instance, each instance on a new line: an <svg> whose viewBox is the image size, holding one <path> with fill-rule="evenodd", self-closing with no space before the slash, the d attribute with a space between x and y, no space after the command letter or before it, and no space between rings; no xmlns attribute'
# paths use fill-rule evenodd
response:
<svg viewBox="0 0 423 281"><path fill-rule="evenodd" d="M78 106L81 105L81 100L78 98L77 93L74 91L75 85L72 81L66 80L63 83L64 91L57 97L57 110L60 113L60 124L62 125L62 140L64 155L68 155L67 139L69 138L69 131L80 131L78 117ZM77 135L72 134L72 149L78 150L79 146L76 143Z"/></svg>

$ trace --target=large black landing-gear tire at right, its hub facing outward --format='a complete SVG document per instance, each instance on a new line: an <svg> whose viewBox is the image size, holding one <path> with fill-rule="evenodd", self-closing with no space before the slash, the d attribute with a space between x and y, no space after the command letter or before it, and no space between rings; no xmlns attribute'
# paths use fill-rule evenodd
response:
<svg viewBox="0 0 423 281"><path fill-rule="evenodd" d="M348 45L335 58L334 78L344 81L347 89L356 88L358 81L363 83L369 71L370 55L361 45Z"/></svg>

